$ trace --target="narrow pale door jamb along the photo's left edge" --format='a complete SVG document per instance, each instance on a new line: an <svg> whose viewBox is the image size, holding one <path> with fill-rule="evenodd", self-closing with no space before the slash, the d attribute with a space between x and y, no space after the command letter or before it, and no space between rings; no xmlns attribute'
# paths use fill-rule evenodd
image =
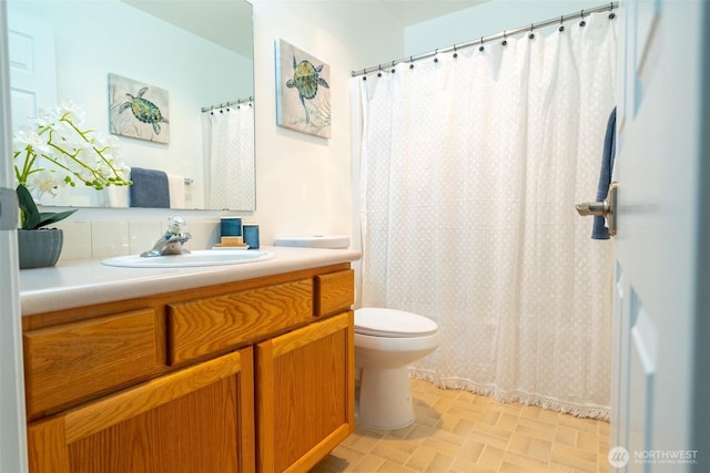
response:
<svg viewBox="0 0 710 473"><path fill-rule="evenodd" d="M0 2L0 473L27 472L6 2Z"/></svg>

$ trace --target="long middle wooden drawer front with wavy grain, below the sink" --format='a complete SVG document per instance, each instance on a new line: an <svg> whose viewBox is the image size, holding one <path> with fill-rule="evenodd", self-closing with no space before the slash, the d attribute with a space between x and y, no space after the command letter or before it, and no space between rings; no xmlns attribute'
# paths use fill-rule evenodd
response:
<svg viewBox="0 0 710 473"><path fill-rule="evenodd" d="M168 306L171 364L264 338L311 320L311 279Z"/></svg>

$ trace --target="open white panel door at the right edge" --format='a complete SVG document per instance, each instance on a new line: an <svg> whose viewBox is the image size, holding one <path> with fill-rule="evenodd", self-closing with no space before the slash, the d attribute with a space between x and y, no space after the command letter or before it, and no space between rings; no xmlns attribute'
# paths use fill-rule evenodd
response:
<svg viewBox="0 0 710 473"><path fill-rule="evenodd" d="M667 0L620 12L612 471L710 467L709 14Z"/></svg>

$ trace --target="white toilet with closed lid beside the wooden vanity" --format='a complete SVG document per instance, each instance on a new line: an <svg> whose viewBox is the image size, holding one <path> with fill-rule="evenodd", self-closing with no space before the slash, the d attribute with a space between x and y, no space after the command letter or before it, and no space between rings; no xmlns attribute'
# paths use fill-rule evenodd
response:
<svg viewBox="0 0 710 473"><path fill-rule="evenodd" d="M278 238L274 245L343 249L349 238ZM384 430L413 423L407 367L438 345L438 327L426 317L374 307L355 310L355 367L359 372L356 422Z"/></svg>

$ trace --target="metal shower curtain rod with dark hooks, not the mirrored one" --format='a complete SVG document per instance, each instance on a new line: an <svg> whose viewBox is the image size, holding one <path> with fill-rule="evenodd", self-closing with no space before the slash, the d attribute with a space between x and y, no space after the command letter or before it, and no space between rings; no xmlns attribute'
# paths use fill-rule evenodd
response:
<svg viewBox="0 0 710 473"><path fill-rule="evenodd" d="M444 53L444 52L449 52L449 51L454 51L456 52L459 49L464 49L464 48L470 48L473 45L484 45L485 43L488 43L490 41L495 41L495 40L500 40L503 39L505 41L506 38L508 37L514 37L516 34L523 33L523 32L532 32L534 30L540 29L540 28L545 28L545 27L549 27L551 24L560 24L560 28L562 27L562 23L565 21L569 21L569 20L576 20L578 18L581 18L582 20L585 19L586 16L590 14L590 13L598 13L600 11L609 11L611 12L615 8L619 8L619 2L618 1L612 1L599 7L595 7L595 8L590 8L590 9L585 9L581 10L580 12L577 13L570 13L570 14L564 14L559 18L551 18L549 20L546 21L540 21L538 23L530 23L527 27L520 27L520 28L516 28L515 30L504 30L500 33L496 33L496 34L490 34L488 37L480 37L480 39L478 40L471 40L471 41L467 41L465 43L462 44L454 44L452 47L448 48L444 48L444 49L437 49L434 51L429 51L429 52L425 52L422 54L415 54L415 55L409 55L407 58L402 58L402 59L397 59L395 61L392 62L385 62L378 65L374 65L372 68L366 68L363 69L362 71L352 71L352 76L356 78L358 75L365 75L368 74L371 72L375 72L375 71L382 71L383 68L394 68L396 64L399 64L402 62L414 62L414 61L419 61L422 59L426 59L426 58L432 58L432 56L436 56L438 53ZM610 13L613 14L613 13ZM611 17L613 18L613 17Z"/></svg>

